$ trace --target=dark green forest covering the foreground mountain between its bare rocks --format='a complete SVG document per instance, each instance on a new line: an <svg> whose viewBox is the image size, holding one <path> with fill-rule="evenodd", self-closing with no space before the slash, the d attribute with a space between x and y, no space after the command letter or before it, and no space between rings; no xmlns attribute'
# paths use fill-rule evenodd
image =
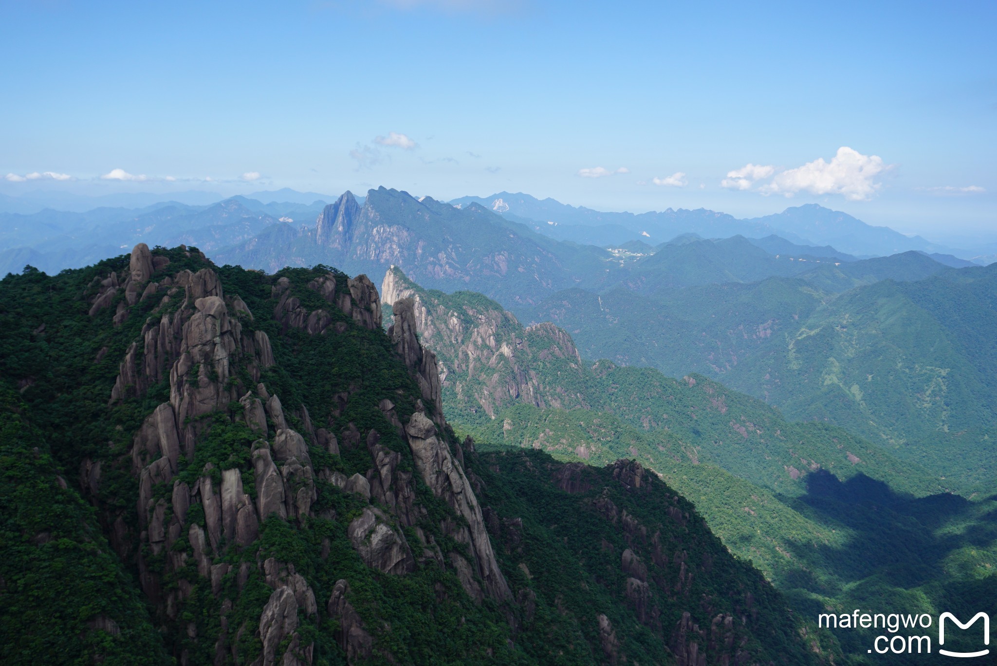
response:
<svg viewBox="0 0 997 666"><path fill-rule="evenodd" d="M230 318L244 337L258 331L272 344L275 363L258 369L260 383L279 395L296 431L308 433L311 421L340 434L339 453L309 439L311 463L322 471L312 480L311 510L296 519L270 515L254 540L222 538L202 561L203 546L193 535L211 530L206 499L192 499L186 523L176 523L170 522L179 510L170 493L199 484L203 496L236 470L256 501L264 491L252 454L263 436L247 426L247 408L238 402L178 424L193 429L196 445L189 458L179 456L172 481L153 487L151 505L165 505L164 520L189 524L189 535L178 531L166 549L151 544L152 527L136 512L140 429L170 390L217 382L254 395L259 389L250 378L250 357L230 356L227 379L218 367L194 369L180 386L168 377L141 390L128 385L123 399L109 405L130 345L151 317L178 316L189 307L183 292L129 305L119 290L107 308L91 315L101 280L112 271L127 273L128 256L57 276L30 268L8 275L0 282L5 664L251 663L266 646L257 625L272 608L273 574L262 566L268 558L287 567L281 575L301 576L317 600L315 610L298 610L294 632L276 646L277 657L293 654L298 663L348 658L346 620L326 610L343 580L346 598L371 636L372 662L390 655L397 663L674 663L683 650L696 653L693 643L710 663L734 661L737 652L776 663L835 654L831 637L815 633L811 619L794 614L750 563L732 556L689 502L647 475L635 485L639 466L579 469L540 452L477 454L446 427L440 437L463 459L486 505L512 598L476 601L457 569L416 545L425 537L439 552L471 556L447 527L464 518L419 474L414 500L425 514L411 526L390 527L413 545L411 572L395 575L368 565L348 533L368 499L329 479L376 474L370 447L350 444L345 434L351 431L370 442L376 430L384 451L399 456L398 474L416 469L392 419L407 422L420 409L420 389L389 338L307 287L331 275L339 293L349 294L347 277L327 267L266 276L214 267L193 248L154 253L169 263L153 279L210 268L227 297L240 297L252 314L229 301ZM281 279L303 310L325 312L327 334L309 334L277 316L275 284ZM142 357L138 363L143 367ZM275 446L276 424L269 421L264 447ZM380 509L389 510L384 504ZM636 560L628 558L628 548ZM364 659L353 655L351 661Z"/></svg>

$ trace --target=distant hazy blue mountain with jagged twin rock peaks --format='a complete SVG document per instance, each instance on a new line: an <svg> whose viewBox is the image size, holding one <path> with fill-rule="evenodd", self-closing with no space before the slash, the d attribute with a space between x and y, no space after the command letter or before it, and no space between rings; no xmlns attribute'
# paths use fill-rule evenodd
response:
<svg viewBox="0 0 997 666"><path fill-rule="evenodd" d="M381 274L398 265L434 287L474 288L524 304L578 283L599 284L615 267L605 250L540 236L481 206L459 209L385 187L371 189L362 206L347 192L294 238L254 238L214 256L269 271L323 263Z"/></svg>

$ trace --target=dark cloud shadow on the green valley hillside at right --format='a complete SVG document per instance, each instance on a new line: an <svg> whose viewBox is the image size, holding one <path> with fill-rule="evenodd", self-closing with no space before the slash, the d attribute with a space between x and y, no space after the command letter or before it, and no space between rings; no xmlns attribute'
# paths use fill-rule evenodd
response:
<svg viewBox="0 0 997 666"><path fill-rule="evenodd" d="M793 504L827 527L852 532L843 548L813 543L794 548L805 561L817 554L845 583L875 575L889 585L914 587L937 579L951 551L997 539L997 511L984 512L980 503L956 495L900 495L861 474L846 482L825 470L810 474L807 495ZM956 533L937 533L952 523L964 525Z"/></svg>

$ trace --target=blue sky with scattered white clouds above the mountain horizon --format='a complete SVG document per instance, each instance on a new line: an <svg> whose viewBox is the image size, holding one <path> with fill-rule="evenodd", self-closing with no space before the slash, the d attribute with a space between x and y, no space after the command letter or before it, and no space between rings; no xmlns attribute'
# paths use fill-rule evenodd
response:
<svg viewBox="0 0 997 666"><path fill-rule="evenodd" d="M0 192L817 201L997 235L995 25L994 2L0 0Z"/></svg>

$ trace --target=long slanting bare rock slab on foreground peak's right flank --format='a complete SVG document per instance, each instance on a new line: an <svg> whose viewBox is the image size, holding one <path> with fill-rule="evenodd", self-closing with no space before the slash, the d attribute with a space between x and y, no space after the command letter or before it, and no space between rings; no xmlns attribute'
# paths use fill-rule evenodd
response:
<svg viewBox="0 0 997 666"><path fill-rule="evenodd" d="M487 593L498 600L511 598L508 583L498 569L482 508L464 470L455 463L447 445L437 438L436 426L424 414L415 412L405 427L405 434L423 481L434 495L445 499L468 521L467 527L455 525L453 536L467 543L475 554L476 573L485 582Z"/></svg>

